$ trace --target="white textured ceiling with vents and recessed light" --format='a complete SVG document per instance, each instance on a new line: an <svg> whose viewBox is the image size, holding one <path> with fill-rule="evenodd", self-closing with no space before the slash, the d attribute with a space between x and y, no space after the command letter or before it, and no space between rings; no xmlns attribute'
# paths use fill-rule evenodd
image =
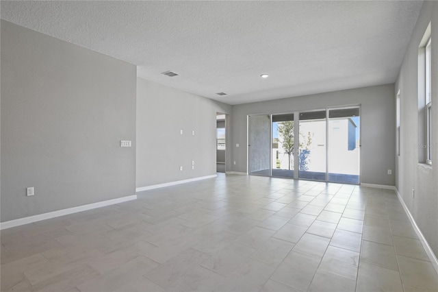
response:
<svg viewBox="0 0 438 292"><path fill-rule="evenodd" d="M1 1L1 19L136 64L146 80L242 104L394 82L421 6Z"/></svg>

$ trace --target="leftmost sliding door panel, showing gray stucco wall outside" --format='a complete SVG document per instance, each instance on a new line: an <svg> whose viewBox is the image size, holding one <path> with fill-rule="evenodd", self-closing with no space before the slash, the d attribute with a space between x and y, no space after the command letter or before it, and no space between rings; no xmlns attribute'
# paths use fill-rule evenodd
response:
<svg viewBox="0 0 438 292"><path fill-rule="evenodd" d="M249 116L248 138L249 173L270 176L271 119L269 114Z"/></svg>

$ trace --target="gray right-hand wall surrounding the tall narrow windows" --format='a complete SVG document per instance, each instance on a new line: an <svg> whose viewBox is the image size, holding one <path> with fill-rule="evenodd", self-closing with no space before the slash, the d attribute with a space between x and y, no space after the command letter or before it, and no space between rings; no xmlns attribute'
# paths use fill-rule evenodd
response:
<svg viewBox="0 0 438 292"><path fill-rule="evenodd" d="M432 24L432 111L433 114L433 167L419 163L416 147L419 141L418 47L428 23ZM413 30L409 48L400 69L395 92L400 90L400 156L396 156L396 187L404 203L422 230L430 247L438 256L438 2L425 1L417 25ZM420 85L421 86L421 85ZM422 97L420 97L422 98ZM394 97L394 105L395 97ZM422 134L422 133L421 133ZM422 155L420 155L422 156ZM415 198L412 190L415 189Z"/></svg>

